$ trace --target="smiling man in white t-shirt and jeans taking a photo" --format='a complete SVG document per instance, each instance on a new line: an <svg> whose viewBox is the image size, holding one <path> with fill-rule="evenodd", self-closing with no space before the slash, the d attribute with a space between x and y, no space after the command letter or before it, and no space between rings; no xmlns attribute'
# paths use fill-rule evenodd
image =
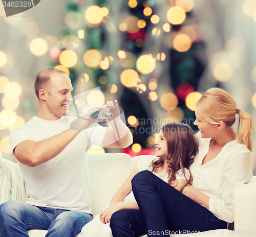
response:
<svg viewBox="0 0 256 237"><path fill-rule="evenodd" d="M1 237L28 237L30 229L48 230L47 237L76 236L93 218L86 146L124 148L132 144L117 101L106 106L111 108L116 127L114 121L110 122L113 128L95 126L102 120L90 115L102 105L84 109L70 125L66 115L72 90L70 78L60 70L46 69L36 77L38 112L10 134L26 182L26 203L9 201L0 206Z"/></svg>

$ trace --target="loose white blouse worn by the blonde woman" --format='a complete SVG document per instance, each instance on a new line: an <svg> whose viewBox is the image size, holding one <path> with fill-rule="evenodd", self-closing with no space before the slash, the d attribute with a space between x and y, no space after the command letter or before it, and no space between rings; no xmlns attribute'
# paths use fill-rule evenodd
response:
<svg viewBox="0 0 256 237"><path fill-rule="evenodd" d="M234 221L234 187L247 183L252 178L252 153L236 140L227 143L212 160L202 165L211 138L199 139L199 151L189 170L193 175L193 186L210 197L209 210L219 219Z"/></svg>

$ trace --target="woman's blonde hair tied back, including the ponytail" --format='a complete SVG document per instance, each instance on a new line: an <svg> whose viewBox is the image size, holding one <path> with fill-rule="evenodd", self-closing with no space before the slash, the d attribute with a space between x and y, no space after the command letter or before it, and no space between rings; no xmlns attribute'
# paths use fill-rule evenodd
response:
<svg viewBox="0 0 256 237"><path fill-rule="evenodd" d="M226 91L219 88L208 89L196 104L197 112L210 124L218 124L223 121L230 127L239 116L238 143L245 142L250 151L252 150L253 122L251 115L237 108L236 102Z"/></svg>

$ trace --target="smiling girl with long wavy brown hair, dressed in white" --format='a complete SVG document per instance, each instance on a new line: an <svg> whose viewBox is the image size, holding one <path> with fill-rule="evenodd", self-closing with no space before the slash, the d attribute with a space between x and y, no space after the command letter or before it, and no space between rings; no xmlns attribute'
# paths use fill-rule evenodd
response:
<svg viewBox="0 0 256 237"><path fill-rule="evenodd" d="M110 206L82 228L81 236L112 236L110 224L106 223L110 222L114 212L121 209L139 211L131 180L140 171L152 172L179 192L186 184L191 184L193 178L188 167L193 163L193 156L198 151L198 141L191 127L181 123L165 124L155 145L156 157L141 157L133 172L113 196Z"/></svg>

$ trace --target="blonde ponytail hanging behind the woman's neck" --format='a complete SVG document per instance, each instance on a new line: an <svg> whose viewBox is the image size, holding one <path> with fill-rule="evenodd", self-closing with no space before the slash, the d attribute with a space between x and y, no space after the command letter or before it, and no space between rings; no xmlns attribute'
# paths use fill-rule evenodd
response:
<svg viewBox="0 0 256 237"><path fill-rule="evenodd" d="M239 123L238 123L238 143L245 142L246 146L252 151L252 131L253 121L251 115L245 111L238 109Z"/></svg>

